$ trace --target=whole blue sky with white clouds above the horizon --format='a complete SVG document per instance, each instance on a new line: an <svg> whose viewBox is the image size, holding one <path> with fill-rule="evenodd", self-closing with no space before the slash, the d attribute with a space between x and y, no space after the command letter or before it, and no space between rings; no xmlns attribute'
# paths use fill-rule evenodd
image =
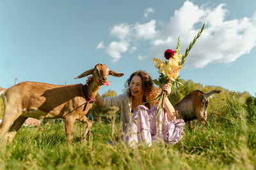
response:
<svg viewBox="0 0 256 170"><path fill-rule="evenodd" d="M256 93L256 1L0 1L0 86L15 78L64 85L106 64L124 76L109 76L109 89L121 94L138 69L159 76L154 57L180 52L205 23L180 78L236 92Z"/></svg>

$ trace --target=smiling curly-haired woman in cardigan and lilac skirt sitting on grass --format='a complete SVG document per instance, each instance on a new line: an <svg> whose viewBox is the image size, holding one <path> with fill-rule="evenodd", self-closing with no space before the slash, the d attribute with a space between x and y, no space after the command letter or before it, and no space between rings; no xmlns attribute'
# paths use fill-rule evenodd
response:
<svg viewBox="0 0 256 170"><path fill-rule="evenodd" d="M159 138L167 143L177 143L184 136L184 121L176 120L175 110L167 97L164 99L164 111L159 113L156 119L158 101L151 100L156 98L161 90L154 87L147 72L139 70L132 73L126 81L125 88L124 94L115 97L102 98L97 94L95 102L103 108L120 108L120 131L125 132L125 143L134 145L139 141L145 141L151 145L152 141L159 141ZM171 83L163 85L162 90L166 92L166 96L170 95ZM148 101L151 102L147 103Z"/></svg>

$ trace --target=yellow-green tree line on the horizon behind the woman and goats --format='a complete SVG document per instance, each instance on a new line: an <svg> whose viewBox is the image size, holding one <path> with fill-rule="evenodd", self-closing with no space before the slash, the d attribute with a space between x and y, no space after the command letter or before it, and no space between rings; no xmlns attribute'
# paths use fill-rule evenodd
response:
<svg viewBox="0 0 256 170"><path fill-rule="evenodd" d="M227 100L232 97L237 103L245 104L252 103L256 99L255 97L251 96L248 92L234 92L227 89L224 89L223 87L219 86L210 86L206 85L203 86L200 83L194 83L192 80L181 80L180 81L182 85L179 86L179 88L175 89L175 91L172 91L170 96L168 96L168 99L170 102L175 106L175 104L179 103L186 95L189 94L189 92L193 90L201 90L202 92L208 93L211 90L221 90L220 94L215 94L212 99L209 101L209 107L208 107L208 113L211 114L214 111L221 112L221 109L225 104L227 103ZM115 90L108 90L104 94L102 94L102 97L109 97L109 96L117 96L118 94L115 92ZM3 117L3 99L0 97L0 118ZM104 109L99 108L95 104L93 104L93 108L88 111L88 114L92 115L105 115L109 114L111 112L111 109Z"/></svg>

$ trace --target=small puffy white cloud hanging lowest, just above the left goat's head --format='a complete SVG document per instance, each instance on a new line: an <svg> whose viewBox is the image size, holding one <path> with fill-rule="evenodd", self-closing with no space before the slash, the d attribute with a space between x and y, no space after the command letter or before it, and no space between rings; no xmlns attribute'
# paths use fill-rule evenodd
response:
<svg viewBox="0 0 256 170"><path fill-rule="evenodd" d="M117 62L121 58L121 53L126 52L128 48L129 43L127 43L126 41L113 41L109 44L106 53L108 53L108 55L113 58L113 62Z"/></svg>

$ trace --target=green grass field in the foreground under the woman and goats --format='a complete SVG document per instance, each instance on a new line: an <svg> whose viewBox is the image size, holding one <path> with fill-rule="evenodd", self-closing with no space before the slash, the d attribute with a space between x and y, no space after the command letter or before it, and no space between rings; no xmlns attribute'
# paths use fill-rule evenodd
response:
<svg viewBox="0 0 256 170"><path fill-rule="evenodd" d="M256 125L244 106L227 102L208 120L207 126L193 124L193 131L186 127L186 136L176 145L137 148L118 143L118 123L93 123L83 144L84 125L77 122L72 145L67 145L64 124L22 127L12 144L1 145L0 168L255 169ZM115 145L108 145L108 139Z"/></svg>

